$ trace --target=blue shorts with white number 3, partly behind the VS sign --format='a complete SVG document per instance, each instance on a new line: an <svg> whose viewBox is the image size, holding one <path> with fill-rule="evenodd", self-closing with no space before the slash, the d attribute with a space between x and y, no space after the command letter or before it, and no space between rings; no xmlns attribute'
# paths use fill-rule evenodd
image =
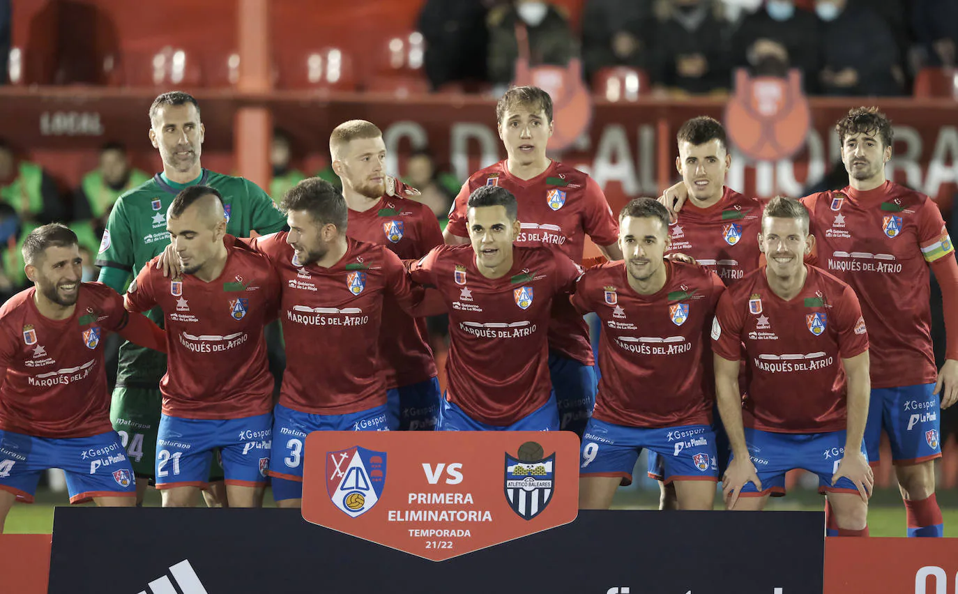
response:
<svg viewBox="0 0 958 594"><path fill-rule="evenodd" d="M313 415L277 404L273 417L269 476L272 477L275 501L303 498L303 447L309 433L396 429L386 404L348 415Z"/></svg>

